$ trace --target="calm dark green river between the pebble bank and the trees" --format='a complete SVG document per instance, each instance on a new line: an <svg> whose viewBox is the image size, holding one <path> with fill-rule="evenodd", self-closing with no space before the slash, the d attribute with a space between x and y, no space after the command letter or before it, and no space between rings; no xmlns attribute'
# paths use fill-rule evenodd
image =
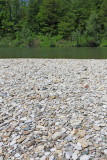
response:
<svg viewBox="0 0 107 160"><path fill-rule="evenodd" d="M0 48L0 58L106 59L107 48Z"/></svg>

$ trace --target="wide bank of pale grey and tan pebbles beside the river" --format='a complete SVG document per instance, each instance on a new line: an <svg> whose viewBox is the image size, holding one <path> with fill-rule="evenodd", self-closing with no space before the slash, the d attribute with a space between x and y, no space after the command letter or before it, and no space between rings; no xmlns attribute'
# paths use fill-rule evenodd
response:
<svg viewBox="0 0 107 160"><path fill-rule="evenodd" d="M107 60L0 60L0 160L107 160Z"/></svg>

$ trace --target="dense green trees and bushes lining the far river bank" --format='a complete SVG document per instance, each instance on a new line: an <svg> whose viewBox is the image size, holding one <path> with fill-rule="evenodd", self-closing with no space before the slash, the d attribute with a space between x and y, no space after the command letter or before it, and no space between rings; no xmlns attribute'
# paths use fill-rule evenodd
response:
<svg viewBox="0 0 107 160"><path fill-rule="evenodd" d="M107 46L107 0L0 0L0 46Z"/></svg>

